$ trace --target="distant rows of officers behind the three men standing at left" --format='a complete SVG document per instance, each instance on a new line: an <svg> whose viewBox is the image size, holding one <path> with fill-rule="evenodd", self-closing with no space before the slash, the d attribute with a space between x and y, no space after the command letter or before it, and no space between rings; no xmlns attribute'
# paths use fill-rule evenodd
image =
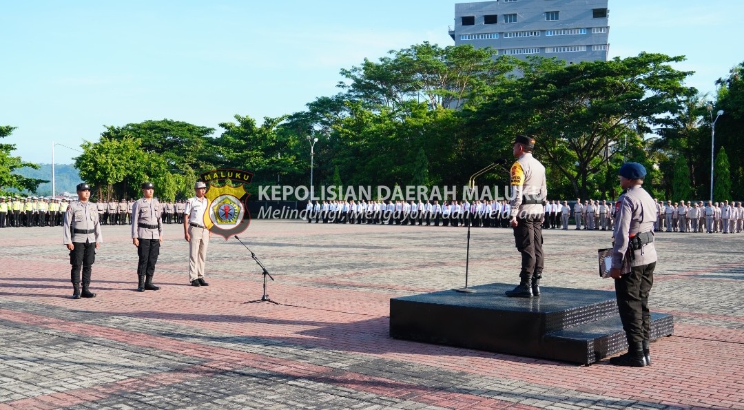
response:
<svg viewBox="0 0 744 410"><path fill-rule="evenodd" d="M72 201L74 202L74 201ZM32 226L62 226L71 202L42 196L0 196L0 228ZM90 202L98 214L101 225L129 225L132 223L132 205L135 201L124 199L110 202ZM186 201L161 202L163 223L183 223Z"/></svg>

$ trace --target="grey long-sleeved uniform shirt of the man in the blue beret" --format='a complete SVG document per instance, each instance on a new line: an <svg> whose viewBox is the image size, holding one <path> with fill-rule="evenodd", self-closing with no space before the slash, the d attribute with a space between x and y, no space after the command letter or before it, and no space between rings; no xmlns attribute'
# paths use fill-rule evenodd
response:
<svg viewBox="0 0 744 410"><path fill-rule="evenodd" d="M620 208L613 232L615 244L612 247L612 267L620 269L623 266L623 257L628 250L629 238L641 232L653 234L653 224L658 216L654 200L641 185L635 185L626 190L618 202L620 202ZM634 257L630 260L630 266L648 265L657 260L654 243L647 243L641 249L632 252Z"/></svg>

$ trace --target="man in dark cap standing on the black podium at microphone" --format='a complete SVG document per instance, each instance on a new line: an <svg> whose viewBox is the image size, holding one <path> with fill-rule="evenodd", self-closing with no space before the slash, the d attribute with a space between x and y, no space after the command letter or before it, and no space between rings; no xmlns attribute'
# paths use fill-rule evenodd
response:
<svg viewBox="0 0 744 410"><path fill-rule="evenodd" d="M535 139L518 135L514 141L513 155L517 158L511 167L510 225L514 230L516 249L522 254L519 286L507 291L507 296L530 298L539 296L542 278L542 222L543 206L548 196L545 184L545 167L532 156Z"/></svg>

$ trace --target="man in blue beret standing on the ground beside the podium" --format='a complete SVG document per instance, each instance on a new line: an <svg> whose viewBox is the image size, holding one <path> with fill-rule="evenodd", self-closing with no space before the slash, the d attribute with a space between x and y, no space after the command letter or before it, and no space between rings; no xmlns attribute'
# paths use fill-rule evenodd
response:
<svg viewBox="0 0 744 410"><path fill-rule="evenodd" d="M642 368L651 364L649 341L651 315L648 308L649 292L656 267L656 248L653 227L658 214L649 193L641 185L646 168L637 162L626 162L620 167L620 196L618 222L615 224L612 246L612 269L615 295L618 299L620 321L628 339L628 353L609 360L613 365ZM629 257L631 272L623 274L623 260Z"/></svg>

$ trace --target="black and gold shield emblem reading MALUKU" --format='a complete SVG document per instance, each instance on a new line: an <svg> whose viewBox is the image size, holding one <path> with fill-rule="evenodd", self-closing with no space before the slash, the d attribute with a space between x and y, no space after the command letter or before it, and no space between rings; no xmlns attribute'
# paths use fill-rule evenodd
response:
<svg viewBox="0 0 744 410"><path fill-rule="evenodd" d="M228 240L248 228L251 214L246 205L248 192L245 184L249 184L252 179L252 173L242 170L211 170L202 173L202 181L210 183L210 188L205 193L209 200L208 211L204 213L204 225L209 231Z"/></svg>

